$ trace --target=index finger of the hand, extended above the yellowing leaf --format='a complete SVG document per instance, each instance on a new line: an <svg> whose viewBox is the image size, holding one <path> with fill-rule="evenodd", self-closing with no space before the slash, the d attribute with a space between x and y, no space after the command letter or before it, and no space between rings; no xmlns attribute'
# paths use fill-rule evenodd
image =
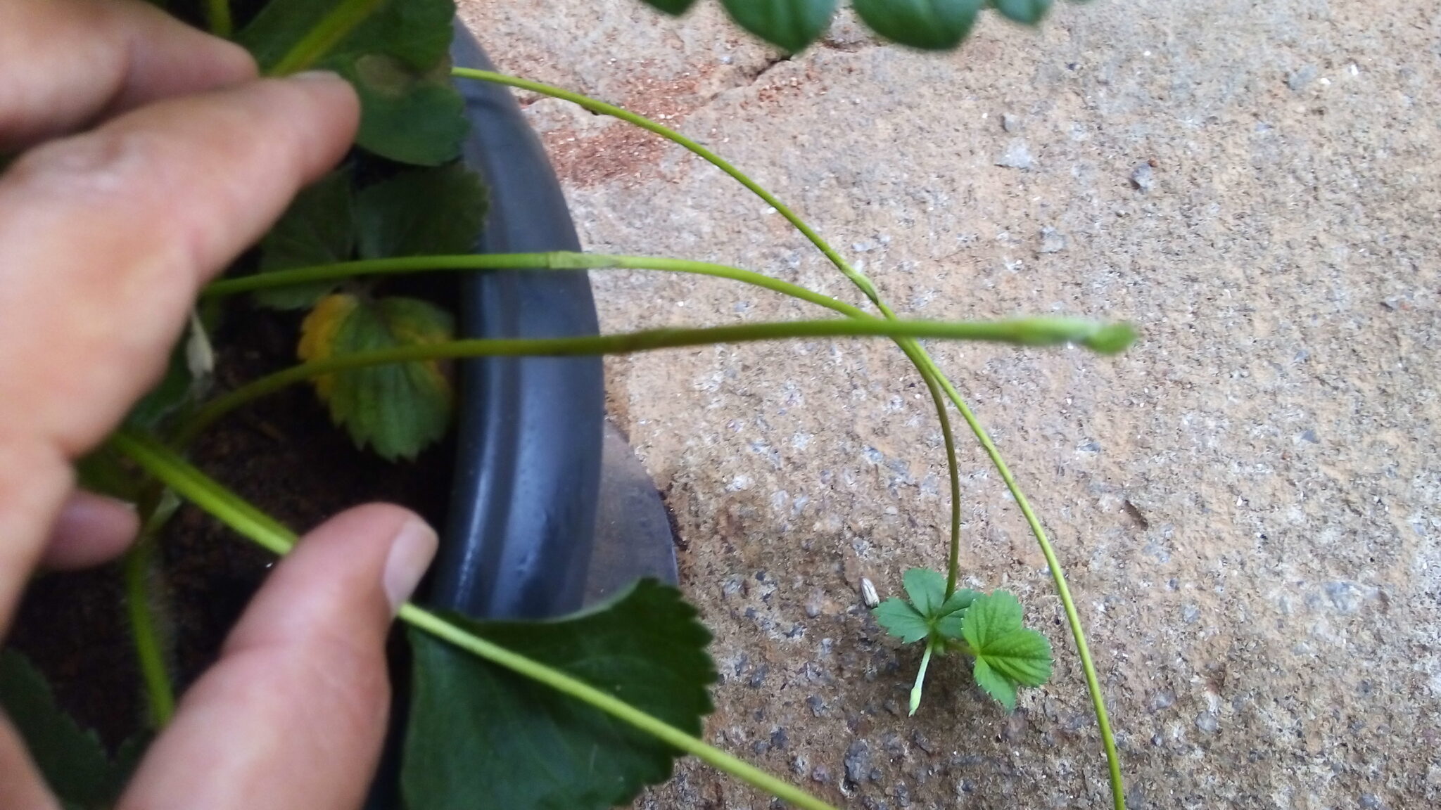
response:
<svg viewBox="0 0 1441 810"><path fill-rule="evenodd" d="M0 633L89 450L157 379L200 284L333 166L334 75L161 101L0 174Z"/></svg>

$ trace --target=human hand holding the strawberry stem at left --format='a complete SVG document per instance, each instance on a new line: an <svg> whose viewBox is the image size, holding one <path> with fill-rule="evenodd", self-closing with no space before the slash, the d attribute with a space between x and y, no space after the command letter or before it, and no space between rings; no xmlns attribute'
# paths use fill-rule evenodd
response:
<svg viewBox="0 0 1441 810"><path fill-rule="evenodd" d="M42 564L108 559L135 516L72 461L153 385L196 291L354 137L330 75L256 79L138 0L0 1L0 636ZM356 807L389 705L383 641L435 535L347 512L285 558L121 807ZM0 807L55 809L0 718Z"/></svg>

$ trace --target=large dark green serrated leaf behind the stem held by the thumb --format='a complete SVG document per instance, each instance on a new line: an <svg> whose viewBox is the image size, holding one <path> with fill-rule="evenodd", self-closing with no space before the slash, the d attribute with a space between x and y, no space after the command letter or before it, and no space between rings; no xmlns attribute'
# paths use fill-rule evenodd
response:
<svg viewBox="0 0 1441 810"><path fill-rule="evenodd" d="M555 621L455 620L687 734L713 711L710 633L653 579ZM427 633L409 638L408 810L601 810L670 775L679 752L653 736Z"/></svg>

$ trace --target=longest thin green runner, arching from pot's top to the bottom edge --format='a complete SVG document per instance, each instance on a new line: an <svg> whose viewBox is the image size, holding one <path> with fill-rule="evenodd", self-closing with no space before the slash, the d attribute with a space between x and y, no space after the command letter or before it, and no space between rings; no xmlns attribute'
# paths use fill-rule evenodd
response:
<svg viewBox="0 0 1441 810"><path fill-rule="evenodd" d="M787 222L794 225L795 229L800 231L821 254L824 254L826 258L829 258L831 264L834 264L836 268L840 270L842 274L850 278L850 281L856 287L859 287L862 293L865 293L865 295L876 306L876 308L879 308L888 319L895 317L891 308L880 300L880 294L876 290L875 284L869 278L866 278L866 275L862 274L859 270L853 268L850 262L847 262L834 248L830 246L829 242L826 242L826 239L820 236L820 233L817 233L810 225L807 225L800 216L797 216L795 212L793 212L788 206L785 206L780 200L780 197L767 192L764 187L761 187L759 183L752 180L749 176L746 176L744 172L732 166L720 156L700 146L697 141L687 138L686 135L682 135L680 133L669 127L657 124L650 118L615 107L614 104L607 104L604 101L598 101L553 85L533 82L530 79L522 79L517 76L509 76L493 71L454 68L452 74L461 78L478 79L478 81L514 86L520 89L529 89L540 95L571 101L592 112L599 112L604 115L620 118L623 121L628 121L643 130L654 133L672 143L684 147L686 150L696 154L702 160L710 163L716 169L720 169L722 172L733 177L738 183L741 183L752 193L755 193L758 197L765 200L781 216L784 216ZM1105 747L1105 760L1111 781L1111 800L1115 806L1115 810L1125 810L1125 787L1121 778L1121 760L1115 748L1115 735L1111 731L1111 721L1105 711L1105 696L1101 693L1101 680L1097 676L1095 662L1091 659L1091 649L1089 644L1087 644L1085 631L1081 627L1081 615L1076 611L1075 600L1071 598L1071 588L1066 585L1065 571L1061 568L1061 562L1056 558L1056 552L1050 545L1050 539L1046 536L1045 529L1040 526L1040 520L1036 517L1035 510L1030 509L1030 503L1026 500L1025 493L1020 491L1020 486L1016 483L1014 476L1010 474L1010 470L1004 463L1004 460L1001 458L1000 451L996 450L996 444L991 441L990 434L987 434L986 428L971 412L970 406L961 398L960 392L955 389L951 380L945 376L945 373L941 372L941 369L935 365L935 360L919 344L911 342L911 346L908 347L899 340L898 344L901 344L901 349L905 350L906 356L911 357L911 360L916 365L916 370L921 373L921 376L929 378L931 380L940 383L941 388L945 391L947 396L961 412L961 417L965 419L965 424L971 428L971 432L976 435L976 440L980 442L981 448L986 451L986 455L996 467L996 471L1000 473L1001 480L1006 481L1006 489L1010 490L1012 497L1016 500L1016 504L1020 507L1020 512L1026 519L1026 525L1030 526L1030 532L1036 538L1036 543L1040 546L1040 553L1045 555L1046 558L1046 565L1050 568L1050 578L1055 582L1056 595L1061 598L1062 608L1065 610L1066 614L1066 623L1071 627L1071 637L1075 641L1076 654L1081 657L1081 669L1085 672L1087 689L1091 692L1091 706L1095 711L1097 725L1101 731L1101 741ZM954 490L958 487L954 453L950 455L948 463L951 466L951 481ZM954 506L957 500L958 497L953 494L951 499L953 523L955 523L955 528L958 529L960 512L958 507ZM947 575L947 587L945 587L947 594L955 591L955 577L958 571L958 562L960 562L960 535L957 530L953 530L950 572Z"/></svg>

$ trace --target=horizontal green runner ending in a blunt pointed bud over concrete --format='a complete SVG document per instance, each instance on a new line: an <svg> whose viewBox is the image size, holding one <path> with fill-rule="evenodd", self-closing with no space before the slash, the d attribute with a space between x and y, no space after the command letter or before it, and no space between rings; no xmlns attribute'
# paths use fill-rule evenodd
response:
<svg viewBox="0 0 1441 810"><path fill-rule="evenodd" d="M712 326L705 329L646 329L620 334L584 337L530 337L450 340L445 343L412 343L336 355L290 366L272 375L220 395L205 404L179 431L177 447L184 447L218 418L261 396L288 385L316 379L329 373L409 363L421 360L454 360L461 357L514 356L574 356L628 355L656 349L679 349L710 343L751 343L790 337L944 337L951 340L986 340L1025 346L1053 346L1078 343L1099 352L1115 352L1130 343L1131 330L1125 324L1101 324L1084 319L1014 319L997 321L927 321L927 320L793 320Z"/></svg>

